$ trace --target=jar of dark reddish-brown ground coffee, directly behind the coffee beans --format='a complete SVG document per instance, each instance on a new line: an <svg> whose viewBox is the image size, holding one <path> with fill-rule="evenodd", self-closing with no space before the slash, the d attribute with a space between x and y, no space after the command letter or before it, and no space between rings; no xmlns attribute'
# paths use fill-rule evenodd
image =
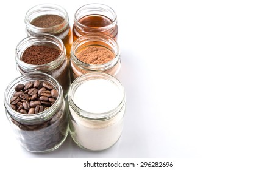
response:
<svg viewBox="0 0 256 170"><path fill-rule="evenodd" d="M59 81L64 95L70 85L69 61L63 42L53 35L37 34L24 38L16 46L15 61L21 74L48 73Z"/></svg>

